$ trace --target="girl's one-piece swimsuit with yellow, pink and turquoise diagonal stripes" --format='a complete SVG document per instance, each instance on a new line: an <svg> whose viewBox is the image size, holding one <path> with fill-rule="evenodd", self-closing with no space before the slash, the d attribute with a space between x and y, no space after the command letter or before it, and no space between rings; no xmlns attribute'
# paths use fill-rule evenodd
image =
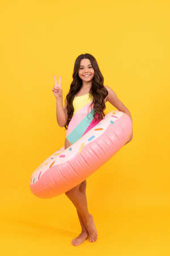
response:
<svg viewBox="0 0 170 256"><path fill-rule="evenodd" d="M71 144L78 141L87 131L91 130L99 120L94 118L94 104L92 104L91 94L87 93L73 99L73 117L71 118L66 131L66 138ZM96 114L97 117L97 114Z"/></svg>

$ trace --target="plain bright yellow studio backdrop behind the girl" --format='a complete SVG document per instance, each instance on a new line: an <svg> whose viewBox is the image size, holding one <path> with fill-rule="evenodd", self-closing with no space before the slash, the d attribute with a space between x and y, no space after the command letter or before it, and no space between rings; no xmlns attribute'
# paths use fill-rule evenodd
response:
<svg viewBox="0 0 170 256"><path fill-rule="evenodd" d="M169 1L1 2L2 255L169 255ZM130 110L133 140L87 179L98 239L78 247L65 194L39 199L32 172L64 145L74 61L91 53ZM113 106L107 102L107 112Z"/></svg>

